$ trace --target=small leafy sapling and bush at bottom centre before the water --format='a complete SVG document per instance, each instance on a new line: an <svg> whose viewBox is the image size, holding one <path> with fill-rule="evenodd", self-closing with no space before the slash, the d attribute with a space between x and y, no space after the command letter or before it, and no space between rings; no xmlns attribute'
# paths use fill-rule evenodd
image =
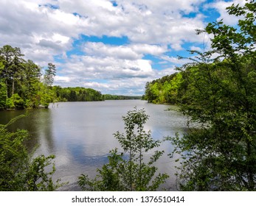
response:
<svg viewBox="0 0 256 206"><path fill-rule="evenodd" d="M125 135L116 132L123 152L114 149L108 155L109 163L97 169L97 176L91 180L85 174L79 177L79 185L89 191L155 191L167 179L167 174L157 174L153 166L163 151L154 151L148 162L143 154L159 146L159 141L151 138L151 132L145 132L144 124L148 120L145 110L128 111L123 117Z"/></svg>

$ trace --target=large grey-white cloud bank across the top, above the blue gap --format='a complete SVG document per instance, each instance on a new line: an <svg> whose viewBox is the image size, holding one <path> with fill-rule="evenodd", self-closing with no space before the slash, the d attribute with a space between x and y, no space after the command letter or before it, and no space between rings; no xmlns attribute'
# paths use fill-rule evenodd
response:
<svg viewBox="0 0 256 206"><path fill-rule="evenodd" d="M90 1L90 4L82 0L1 1L0 25L4 29L0 30L3 34L11 35L3 36L2 42L10 42L12 38L14 46L23 47L19 39L24 35L22 38L26 38L26 43L33 48L34 43L41 41L36 49L44 53L46 46L53 51L56 47L60 52L69 49L70 40L78 38L80 34L127 35L135 43L170 44L173 49L179 50L185 40L198 40L193 35L194 29L204 26L199 15L196 18L182 18L179 14L181 10L184 13L195 10L201 1L181 2L149 1L143 5L143 1L117 1L118 6L113 7L106 0ZM51 4L59 9L53 9L49 6ZM55 40L54 35L66 37L66 40ZM52 54L52 49L49 49L49 54ZM30 55L29 51L27 55ZM57 51L53 55L56 54Z"/></svg>

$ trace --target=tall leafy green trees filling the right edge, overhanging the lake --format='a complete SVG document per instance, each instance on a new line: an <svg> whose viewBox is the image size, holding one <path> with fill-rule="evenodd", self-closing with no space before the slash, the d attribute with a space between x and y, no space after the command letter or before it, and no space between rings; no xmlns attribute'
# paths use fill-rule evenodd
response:
<svg viewBox="0 0 256 206"><path fill-rule="evenodd" d="M200 127L171 138L182 157L181 190L256 190L255 9L254 1L228 7L242 17L237 27L208 24L213 51L184 66L181 111Z"/></svg>

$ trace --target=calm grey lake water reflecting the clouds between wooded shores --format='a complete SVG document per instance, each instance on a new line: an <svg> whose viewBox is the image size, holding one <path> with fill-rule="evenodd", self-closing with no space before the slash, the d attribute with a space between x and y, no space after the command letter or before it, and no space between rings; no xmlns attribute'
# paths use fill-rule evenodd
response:
<svg viewBox="0 0 256 206"><path fill-rule="evenodd" d="M105 102L60 102L50 104L47 110L28 110L28 116L21 118L11 129L27 129L31 135L30 146L38 145L36 154L55 154L55 179L68 181L62 190L79 191L77 177L89 174L94 177L96 169L108 163L108 152L120 148L114 132L124 132L125 116L128 110L145 108L150 116L145 130L151 130L153 139L184 133L187 118L176 110L167 110L170 105L148 104L141 100L115 100ZM0 124L26 111L0 112ZM159 172L170 175L163 187L176 191L174 159L167 156L173 151L170 143L162 143L165 154L157 163Z"/></svg>

